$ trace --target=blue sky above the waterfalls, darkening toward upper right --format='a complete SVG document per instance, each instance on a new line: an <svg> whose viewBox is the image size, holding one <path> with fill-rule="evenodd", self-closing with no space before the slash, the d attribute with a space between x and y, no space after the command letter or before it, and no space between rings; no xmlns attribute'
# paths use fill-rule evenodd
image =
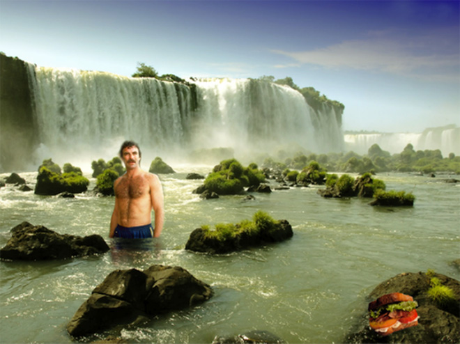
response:
<svg viewBox="0 0 460 344"><path fill-rule="evenodd" d="M460 1L0 0L0 51L131 76L291 77L344 130L460 125Z"/></svg>

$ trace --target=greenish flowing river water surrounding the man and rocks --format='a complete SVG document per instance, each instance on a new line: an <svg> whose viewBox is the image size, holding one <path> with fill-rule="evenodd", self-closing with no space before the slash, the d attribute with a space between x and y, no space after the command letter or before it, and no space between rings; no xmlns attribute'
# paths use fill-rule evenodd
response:
<svg viewBox="0 0 460 344"><path fill-rule="evenodd" d="M72 343L67 323L114 269L181 266L215 292L199 306L122 329L128 343L211 343L215 336L252 329L268 330L288 343L341 343L362 321L369 292L386 279L427 269L460 279L450 264L460 258L460 186L442 182L443 177L378 175L387 189L412 191L416 200L413 208L376 208L369 199L322 198L318 187L254 194L254 201L245 196L201 200L192 194L201 181L185 175L211 168L174 166L177 173L160 175L166 210L162 236L122 249L107 237L113 198L68 199L1 188L1 247L10 228L22 221L58 233L96 233L111 246L109 253L91 258L0 262L1 343ZM29 185L35 182L36 173L21 175ZM293 237L222 256L185 251L194 228L251 219L257 210L287 219Z"/></svg>

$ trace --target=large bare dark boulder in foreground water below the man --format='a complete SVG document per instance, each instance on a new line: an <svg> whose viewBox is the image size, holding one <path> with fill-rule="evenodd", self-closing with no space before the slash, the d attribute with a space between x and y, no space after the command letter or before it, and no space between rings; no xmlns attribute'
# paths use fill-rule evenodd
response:
<svg viewBox="0 0 460 344"><path fill-rule="evenodd" d="M94 334L194 306L212 295L208 284L182 267L152 265L144 271L115 270L79 307L67 330L71 336Z"/></svg>

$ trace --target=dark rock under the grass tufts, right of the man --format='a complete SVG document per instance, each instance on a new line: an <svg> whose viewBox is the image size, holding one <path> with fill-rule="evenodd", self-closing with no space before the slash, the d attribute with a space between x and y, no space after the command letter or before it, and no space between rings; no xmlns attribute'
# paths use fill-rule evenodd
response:
<svg viewBox="0 0 460 344"><path fill-rule="evenodd" d="M187 244L185 244L185 249L196 252L222 254L256 247L266 243L281 242L292 236L292 227L286 220L277 221L275 228L271 230L260 230L259 233L256 234L243 231L233 237L227 237L224 240L208 237L206 235L206 230L197 228L190 233Z"/></svg>

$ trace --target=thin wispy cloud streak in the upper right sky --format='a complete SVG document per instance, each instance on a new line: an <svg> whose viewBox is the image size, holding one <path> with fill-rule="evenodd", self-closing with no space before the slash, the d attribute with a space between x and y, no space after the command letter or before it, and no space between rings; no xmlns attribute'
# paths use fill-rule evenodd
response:
<svg viewBox="0 0 460 344"><path fill-rule="evenodd" d="M443 49L443 46L449 43L445 39L443 42L438 40L436 46L433 45L432 37L420 36L411 40L394 40L384 37L388 36L386 34L388 32L372 32L366 39L346 40L309 51L272 50L272 52L293 58L300 64L320 65L324 68L353 68L458 81L459 53L455 49L453 51Z"/></svg>

